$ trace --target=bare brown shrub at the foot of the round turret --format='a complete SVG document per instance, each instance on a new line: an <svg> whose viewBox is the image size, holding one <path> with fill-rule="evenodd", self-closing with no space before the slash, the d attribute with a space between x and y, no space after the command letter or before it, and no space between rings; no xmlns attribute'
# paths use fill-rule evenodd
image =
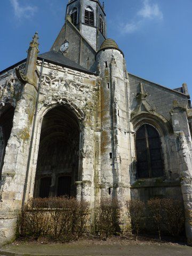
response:
<svg viewBox="0 0 192 256"><path fill-rule="evenodd" d="M114 234L119 219L119 205L115 199L102 199L100 206L95 212L95 230L101 238L107 240L109 235Z"/></svg>

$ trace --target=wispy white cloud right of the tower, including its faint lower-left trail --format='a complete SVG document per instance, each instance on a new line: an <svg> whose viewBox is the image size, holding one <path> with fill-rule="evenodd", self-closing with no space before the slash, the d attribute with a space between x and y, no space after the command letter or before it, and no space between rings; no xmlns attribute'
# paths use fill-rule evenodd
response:
<svg viewBox="0 0 192 256"><path fill-rule="evenodd" d="M161 9L157 3L152 3L152 1L153 0L142 0L142 7L135 14L133 20L121 26L122 34L137 31L145 20L163 20L163 13Z"/></svg>

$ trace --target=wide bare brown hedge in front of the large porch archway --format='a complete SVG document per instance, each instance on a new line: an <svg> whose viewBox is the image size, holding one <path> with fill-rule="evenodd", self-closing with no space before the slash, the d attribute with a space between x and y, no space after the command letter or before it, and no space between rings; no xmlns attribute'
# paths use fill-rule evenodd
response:
<svg viewBox="0 0 192 256"><path fill-rule="evenodd" d="M30 199L21 214L20 234L61 242L78 239L85 232L88 215L89 204L75 198Z"/></svg>

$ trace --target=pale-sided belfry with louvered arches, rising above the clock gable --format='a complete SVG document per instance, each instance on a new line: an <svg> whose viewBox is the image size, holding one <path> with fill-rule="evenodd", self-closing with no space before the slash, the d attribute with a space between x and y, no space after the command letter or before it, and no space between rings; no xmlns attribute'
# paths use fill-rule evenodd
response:
<svg viewBox="0 0 192 256"><path fill-rule="evenodd" d="M69 0L67 15L93 49L98 51L107 37L104 4L101 5L99 0Z"/></svg>

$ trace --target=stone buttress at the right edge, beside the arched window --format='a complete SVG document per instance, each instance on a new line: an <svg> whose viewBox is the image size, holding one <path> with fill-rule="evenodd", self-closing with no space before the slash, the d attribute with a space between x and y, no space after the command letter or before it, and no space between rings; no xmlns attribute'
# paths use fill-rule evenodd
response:
<svg viewBox="0 0 192 256"><path fill-rule="evenodd" d="M173 101L171 119L178 147L181 191L185 207L185 228L188 245L192 246L192 145L187 118L188 111Z"/></svg>

